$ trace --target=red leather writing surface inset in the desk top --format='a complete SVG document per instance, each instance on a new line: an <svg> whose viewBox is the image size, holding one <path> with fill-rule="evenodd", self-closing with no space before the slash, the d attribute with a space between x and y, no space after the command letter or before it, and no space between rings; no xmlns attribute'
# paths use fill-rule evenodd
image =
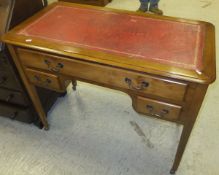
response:
<svg viewBox="0 0 219 175"><path fill-rule="evenodd" d="M58 5L19 34L127 58L202 69L204 30L198 24Z"/></svg>

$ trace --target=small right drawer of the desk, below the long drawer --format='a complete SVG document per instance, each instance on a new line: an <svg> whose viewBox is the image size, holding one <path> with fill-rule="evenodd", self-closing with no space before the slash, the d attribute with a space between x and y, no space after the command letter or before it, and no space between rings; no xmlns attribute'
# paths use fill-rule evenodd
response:
<svg viewBox="0 0 219 175"><path fill-rule="evenodd" d="M182 107L178 105L144 97L136 97L135 108L136 111L140 113L167 120L177 120L182 109Z"/></svg>

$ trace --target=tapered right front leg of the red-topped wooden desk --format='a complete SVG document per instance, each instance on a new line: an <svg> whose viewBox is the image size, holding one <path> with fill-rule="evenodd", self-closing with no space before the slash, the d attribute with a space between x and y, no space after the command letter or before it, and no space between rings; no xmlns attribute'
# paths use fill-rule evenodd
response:
<svg viewBox="0 0 219 175"><path fill-rule="evenodd" d="M188 113L184 117L184 127L181 134L180 142L177 148L175 160L173 163L173 167L170 170L171 174L174 174L179 166L179 163L181 161L183 152L185 150L186 144L188 142L189 136L191 134L192 128L195 124L195 120L198 116L198 112L201 108L202 102L205 97L205 93L207 91L208 85L197 85L195 94L192 98L191 103L189 104L190 108L188 110Z"/></svg>

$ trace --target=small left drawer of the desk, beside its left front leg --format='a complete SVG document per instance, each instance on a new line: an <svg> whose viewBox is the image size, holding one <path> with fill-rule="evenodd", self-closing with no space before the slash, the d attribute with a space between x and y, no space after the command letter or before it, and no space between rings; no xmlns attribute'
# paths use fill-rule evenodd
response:
<svg viewBox="0 0 219 175"><path fill-rule="evenodd" d="M28 68L26 69L26 74L29 78L29 81L36 86L62 91L62 86L58 76L56 75Z"/></svg>

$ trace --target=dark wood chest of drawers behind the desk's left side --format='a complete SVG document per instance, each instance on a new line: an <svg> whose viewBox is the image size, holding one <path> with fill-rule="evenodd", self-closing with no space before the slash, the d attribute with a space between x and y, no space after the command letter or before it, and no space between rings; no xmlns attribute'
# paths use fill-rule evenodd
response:
<svg viewBox="0 0 219 175"><path fill-rule="evenodd" d="M0 0L0 36L40 11L45 5L46 0ZM37 92L46 113L60 96L60 93L42 88L37 88ZM40 124L11 55L2 42L0 42L0 116Z"/></svg>

